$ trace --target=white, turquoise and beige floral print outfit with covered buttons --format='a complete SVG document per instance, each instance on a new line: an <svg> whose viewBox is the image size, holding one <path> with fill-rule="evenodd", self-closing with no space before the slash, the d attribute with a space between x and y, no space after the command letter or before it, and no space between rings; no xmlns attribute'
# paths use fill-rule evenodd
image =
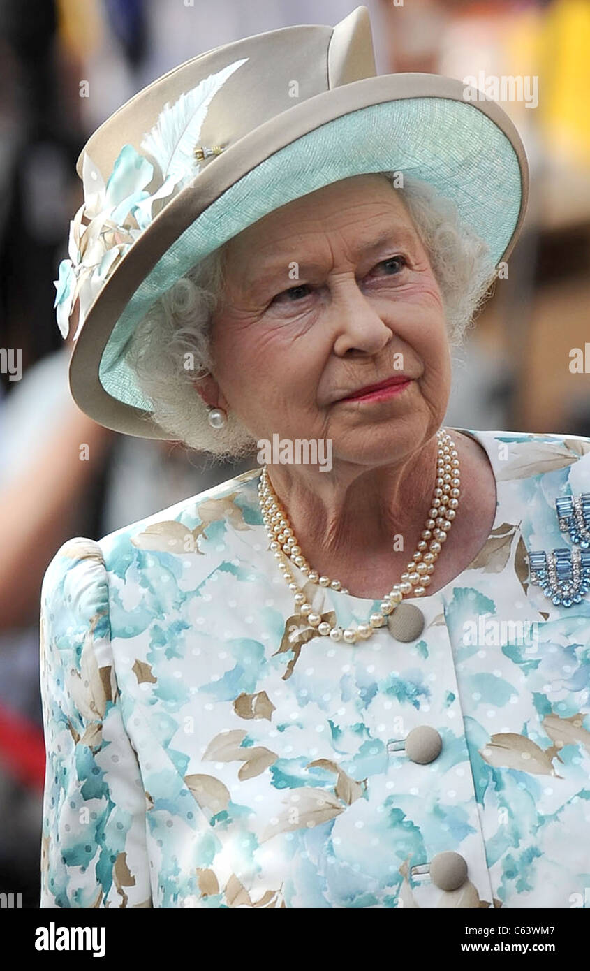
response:
<svg viewBox="0 0 590 971"><path fill-rule="evenodd" d="M590 491L590 440L456 430L489 456L496 519L409 598L412 642L295 615L260 469L55 553L42 907L590 907L590 594L554 604L526 560L569 545L555 498ZM312 592L341 626L377 606ZM420 762L425 725L442 747ZM467 875L445 888L449 852Z"/></svg>

